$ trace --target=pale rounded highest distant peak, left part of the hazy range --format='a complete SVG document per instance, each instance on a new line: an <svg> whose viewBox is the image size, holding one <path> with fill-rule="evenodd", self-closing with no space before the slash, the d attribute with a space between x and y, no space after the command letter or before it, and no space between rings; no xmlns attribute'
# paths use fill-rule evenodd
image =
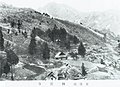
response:
<svg viewBox="0 0 120 87"><path fill-rule="evenodd" d="M78 23L78 21L83 16L83 13L80 14L76 9L72 7L54 2L48 3L43 8L39 8L39 10L42 12L47 12L55 18L69 20L76 23Z"/></svg>

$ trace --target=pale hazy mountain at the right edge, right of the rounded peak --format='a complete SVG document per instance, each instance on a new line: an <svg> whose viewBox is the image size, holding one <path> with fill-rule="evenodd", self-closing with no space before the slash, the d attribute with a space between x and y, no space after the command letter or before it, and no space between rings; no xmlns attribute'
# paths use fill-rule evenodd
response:
<svg viewBox="0 0 120 87"><path fill-rule="evenodd" d="M115 33L115 35L120 35L119 11L91 12L89 15L84 17L81 22L93 29L100 31L110 30Z"/></svg>

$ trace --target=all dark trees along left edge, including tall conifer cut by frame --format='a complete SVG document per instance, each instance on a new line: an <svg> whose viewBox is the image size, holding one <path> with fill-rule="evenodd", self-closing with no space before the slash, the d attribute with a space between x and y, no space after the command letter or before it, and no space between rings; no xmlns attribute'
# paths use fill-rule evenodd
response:
<svg viewBox="0 0 120 87"><path fill-rule="evenodd" d="M0 28L0 50L5 51L7 54L7 59L5 64L3 64L2 73L5 73L6 76L12 69L12 65L16 65L19 62L18 56L14 53L13 50L10 49L10 43L7 41L5 47L4 47L4 39L2 34L2 28ZM11 75L11 79L14 80L13 73Z"/></svg>

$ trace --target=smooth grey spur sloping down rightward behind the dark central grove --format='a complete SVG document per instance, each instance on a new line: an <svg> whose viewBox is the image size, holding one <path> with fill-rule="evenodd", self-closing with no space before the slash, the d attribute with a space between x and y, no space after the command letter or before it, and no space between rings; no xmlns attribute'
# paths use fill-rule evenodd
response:
<svg viewBox="0 0 120 87"><path fill-rule="evenodd" d="M89 28L79 25L79 24L74 24L68 21L63 21L60 19L56 19L63 23L66 27L68 27L68 31L74 35L77 35L82 41L91 43L91 44L96 44L96 43L102 43L104 42L103 40L103 34L98 35L97 32L93 32Z"/></svg>

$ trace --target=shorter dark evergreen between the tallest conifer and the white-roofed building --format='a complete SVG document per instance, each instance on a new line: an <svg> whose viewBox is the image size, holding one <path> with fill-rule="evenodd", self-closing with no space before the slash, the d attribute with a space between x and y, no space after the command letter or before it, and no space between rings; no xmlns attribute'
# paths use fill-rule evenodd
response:
<svg viewBox="0 0 120 87"><path fill-rule="evenodd" d="M50 59L50 49L48 47L47 43L43 43L43 58L46 59Z"/></svg>

